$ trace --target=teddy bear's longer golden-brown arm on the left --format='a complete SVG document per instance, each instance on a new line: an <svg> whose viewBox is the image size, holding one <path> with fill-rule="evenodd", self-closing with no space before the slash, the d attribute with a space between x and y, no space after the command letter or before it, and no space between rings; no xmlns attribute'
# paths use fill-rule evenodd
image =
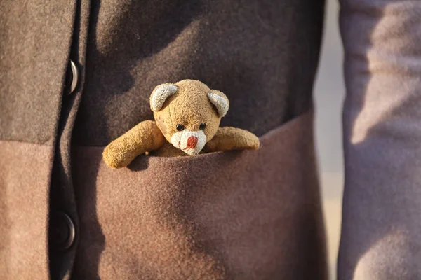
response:
<svg viewBox="0 0 421 280"><path fill-rule="evenodd" d="M156 123L145 120L112 141L102 153L102 158L109 167L126 167L138 155L161 148L164 141Z"/></svg>

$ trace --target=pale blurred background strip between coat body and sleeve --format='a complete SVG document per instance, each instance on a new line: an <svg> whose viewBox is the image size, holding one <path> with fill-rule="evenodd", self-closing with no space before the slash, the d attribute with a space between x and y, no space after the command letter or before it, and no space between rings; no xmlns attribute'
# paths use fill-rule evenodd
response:
<svg viewBox="0 0 421 280"><path fill-rule="evenodd" d="M331 280L336 279L344 181L341 114L345 85L342 76L343 51L338 16L338 0L327 0L323 45L314 88L316 148L319 155Z"/></svg>

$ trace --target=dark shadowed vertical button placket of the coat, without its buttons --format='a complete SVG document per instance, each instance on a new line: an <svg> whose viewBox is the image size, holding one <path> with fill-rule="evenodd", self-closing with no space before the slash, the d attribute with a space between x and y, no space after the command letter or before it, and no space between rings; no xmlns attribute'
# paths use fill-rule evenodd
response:
<svg viewBox="0 0 421 280"><path fill-rule="evenodd" d="M76 239L74 245L68 250L61 250L55 244L48 243L49 268L51 279L69 279L76 250L79 229L76 201L74 200L72 159L70 156L70 145L74 120L81 101L83 91L86 65L86 43L88 38L89 15L91 1L80 0L74 10L74 29L72 36L72 47L68 50L69 57L76 63L79 70L79 79L76 91L67 94L67 88L62 89L62 104L60 116L58 117L58 132L55 136L55 157L51 174L51 186L49 191L50 215L56 211L64 211L73 221L76 227ZM54 67L52 65L51 67ZM57 225L48 224L48 228L56 228Z"/></svg>

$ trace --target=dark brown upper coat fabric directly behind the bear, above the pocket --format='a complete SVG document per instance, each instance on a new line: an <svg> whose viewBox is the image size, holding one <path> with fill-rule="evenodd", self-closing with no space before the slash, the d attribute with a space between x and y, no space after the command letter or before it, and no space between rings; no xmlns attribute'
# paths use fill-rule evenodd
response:
<svg viewBox="0 0 421 280"><path fill-rule="evenodd" d="M221 126L258 136L312 106L322 0L92 3L75 144L106 146L153 120L154 87L187 78L227 94Z"/></svg>

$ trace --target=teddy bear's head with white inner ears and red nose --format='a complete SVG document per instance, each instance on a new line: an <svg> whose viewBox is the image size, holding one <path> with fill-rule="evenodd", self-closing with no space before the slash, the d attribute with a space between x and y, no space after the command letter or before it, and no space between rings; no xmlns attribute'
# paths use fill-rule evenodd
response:
<svg viewBox="0 0 421 280"><path fill-rule="evenodd" d="M199 80L158 85L150 105L163 136L189 155L198 154L215 136L229 109L225 94Z"/></svg>

